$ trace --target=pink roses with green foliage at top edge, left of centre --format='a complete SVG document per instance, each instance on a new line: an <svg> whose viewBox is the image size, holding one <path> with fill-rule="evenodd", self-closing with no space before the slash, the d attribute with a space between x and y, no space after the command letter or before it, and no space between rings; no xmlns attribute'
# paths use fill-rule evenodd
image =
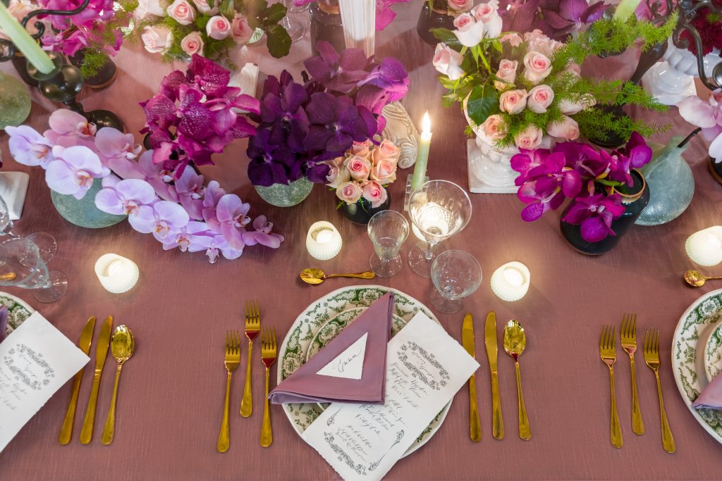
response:
<svg viewBox="0 0 722 481"><path fill-rule="evenodd" d="M288 55L291 37L279 25L282 3L266 0L139 0L135 16L145 49L166 61L187 61L199 54L233 66L231 50L245 45L254 32L266 33L269 53Z"/></svg>

